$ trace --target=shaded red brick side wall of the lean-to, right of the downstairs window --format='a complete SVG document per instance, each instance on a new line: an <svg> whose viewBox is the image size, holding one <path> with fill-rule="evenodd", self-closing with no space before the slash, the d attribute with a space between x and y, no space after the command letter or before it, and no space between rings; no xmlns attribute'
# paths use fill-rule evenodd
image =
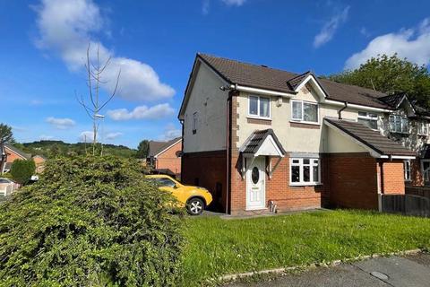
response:
<svg viewBox="0 0 430 287"><path fill-rule="evenodd" d="M330 153L327 180L334 207L378 208L376 160L368 153Z"/></svg>

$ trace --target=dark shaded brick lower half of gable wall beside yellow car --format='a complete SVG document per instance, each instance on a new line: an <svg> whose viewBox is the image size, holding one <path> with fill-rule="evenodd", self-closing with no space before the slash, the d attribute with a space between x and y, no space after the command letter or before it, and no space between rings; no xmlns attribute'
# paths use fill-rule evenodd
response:
<svg viewBox="0 0 430 287"><path fill-rule="evenodd" d="M226 151L192 152L182 156L182 182L207 188L213 197L210 209L226 211Z"/></svg>

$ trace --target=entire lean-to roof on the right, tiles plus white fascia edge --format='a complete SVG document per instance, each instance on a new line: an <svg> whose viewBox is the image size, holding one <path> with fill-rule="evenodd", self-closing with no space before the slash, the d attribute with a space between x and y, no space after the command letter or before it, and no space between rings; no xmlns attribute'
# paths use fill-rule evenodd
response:
<svg viewBox="0 0 430 287"><path fill-rule="evenodd" d="M324 118L325 126L348 137L379 159L415 159L417 153L361 123L333 117Z"/></svg>

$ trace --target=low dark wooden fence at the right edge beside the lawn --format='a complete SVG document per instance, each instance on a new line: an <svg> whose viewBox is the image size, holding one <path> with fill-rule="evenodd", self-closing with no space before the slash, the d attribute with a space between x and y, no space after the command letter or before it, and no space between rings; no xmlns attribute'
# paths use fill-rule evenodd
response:
<svg viewBox="0 0 430 287"><path fill-rule="evenodd" d="M415 195L382 195L383 213L430 217L430 198Z"/></svg>

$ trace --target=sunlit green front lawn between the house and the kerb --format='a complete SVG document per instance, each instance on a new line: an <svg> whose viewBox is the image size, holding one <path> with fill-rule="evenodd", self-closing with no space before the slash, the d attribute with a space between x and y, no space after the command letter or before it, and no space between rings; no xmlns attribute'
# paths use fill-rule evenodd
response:
<svg viewBox="0 0 430 287"><path fill-rule="evenodd" d="M185 285L224 274L430 248L430 219L364 211L189 218Z"/></svg>

